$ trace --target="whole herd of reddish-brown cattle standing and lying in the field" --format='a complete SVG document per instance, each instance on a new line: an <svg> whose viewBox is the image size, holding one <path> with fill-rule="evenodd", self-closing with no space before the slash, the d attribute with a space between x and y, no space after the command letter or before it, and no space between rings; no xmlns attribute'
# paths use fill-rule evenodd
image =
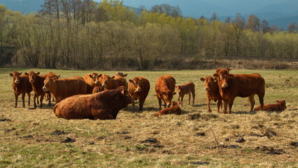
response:
<svg viewBox="0 0 298 168"><path fill-rule="evenodd" d="M250 102L250 111L283 111L286 109L285 100L277 101L277 104L264 105L265 81L259 73L253 74L232 74L231 69L216 69L212 76L200 78L204 82L207 96L207 109L211 112L211 99L217 102L217 111L231 113L235 97L248 97ZM28 95L28 105L30 105L30 92L34 91L34 108L39 104L43 108L43 99L48 100L51 105L51 97L55 100L55 115L66 119L115 119L119 111L132 104L134 110L135 100L139 99L139 110L143 109L143 104L150 90L148 79L138 76L129 79L127 83L126 76L121 72L115 73L110 77L106 74L88 73L83 78L73 76L72 78L59 78L55 73L19 73L14 71L9 74L13 77L13 90L15 94L15 107L17 99L22 94L22 106L25 106L24 97ZM178 102L172 102L173 95L178 92ZM183 106L183 97L188 95L188 104L192 97L194 105L194 83L185 83L176 85L176 79L171 75L164 75L157 78L155 83L155 92L159 103L159 113L156 116L164 114L181 114L178 105ZM260 100L260 106L253 109L255 105L254 96L257 94ZM39 101L38 101L39 97ZM36 103L37 102L37 103ZM164 102L164 109L162 109ZM222 103L223 102L223 103Z"/></svg>

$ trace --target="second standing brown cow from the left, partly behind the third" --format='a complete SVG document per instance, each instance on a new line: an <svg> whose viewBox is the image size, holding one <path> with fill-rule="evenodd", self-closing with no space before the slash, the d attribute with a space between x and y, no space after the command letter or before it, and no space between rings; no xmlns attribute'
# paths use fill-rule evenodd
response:
<svg viewBox="0 0 298 168"><path fill-rule="evenodd" d="M43 108L43 97L45 96L45 94L47 94L47 97L48 97L48 106L50 106L50 97L51 97L51 94L50 92L43 92L43 81L45 80L45 78L47 76L50 76L50 77L57 77L59 78L59 76L55 75L55 73L46 73L45 75L43 76L40 76L39 72L38 73L34 73L34 71L30 71L29 74L28 73L25 73L27 76L29 76L29 82L31 83L32 85L32 88L34 90L34 108L36 108L36 99L38 100L38 97L41 96L40 98L40 102L41 104L39 104L39 108L42 109Z"/></svg>

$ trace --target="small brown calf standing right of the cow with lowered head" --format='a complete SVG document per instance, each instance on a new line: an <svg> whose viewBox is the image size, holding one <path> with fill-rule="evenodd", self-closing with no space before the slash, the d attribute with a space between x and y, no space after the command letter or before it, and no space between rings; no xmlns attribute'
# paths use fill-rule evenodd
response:
<svg viewBox="0 0 298 168"><path fill-rule="evenodd" d="M181 98L181 106L183 106L183 97L185 94L188 94L188 103L190 104L190 93L192 93L192 105L194 105L194 83L190 82L190 83L185 83L183 85L178 85L176 86L177 92L178 92L178 102L180 102L180 98Z"/></svg>

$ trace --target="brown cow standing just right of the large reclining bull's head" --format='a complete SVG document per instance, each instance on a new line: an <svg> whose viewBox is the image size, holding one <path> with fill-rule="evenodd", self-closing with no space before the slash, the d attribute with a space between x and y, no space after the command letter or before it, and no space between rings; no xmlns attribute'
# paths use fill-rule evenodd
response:
<svg viewBox="0 0 298 168"><path fill-rule="evenodd" d="M142 76L129 79L129 94L132 96L132 109L134 110L134 100L139 99L139 110L143 110L143 104L150 90L149 80Z"/></svg>

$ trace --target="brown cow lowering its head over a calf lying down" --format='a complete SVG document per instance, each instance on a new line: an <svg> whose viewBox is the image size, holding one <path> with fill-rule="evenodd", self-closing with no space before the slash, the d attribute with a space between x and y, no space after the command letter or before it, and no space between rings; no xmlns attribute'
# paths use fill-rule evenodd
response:
<svg viewBox="0 0 298 168"><path fill-rule="evenodd" d="M164 108L171 105L175 91L176 80L171 75L160 76L155 83L156 97L159 103L159 109L162 109L162 101L164 101Z"/></svg>

